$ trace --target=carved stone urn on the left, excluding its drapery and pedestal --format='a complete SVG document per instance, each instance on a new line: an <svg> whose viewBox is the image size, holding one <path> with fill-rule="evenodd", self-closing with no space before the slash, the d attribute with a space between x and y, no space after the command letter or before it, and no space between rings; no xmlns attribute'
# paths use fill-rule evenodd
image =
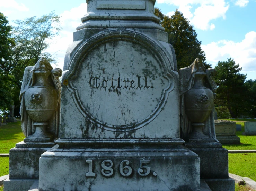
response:
<svg viewBox="0 0 256 191"><path fill-rule="evenodd" d="M42 58L39 66L31 71L32 85L26 90L24 98L27 114L34 121L36 130L26 138L27 141L48 142L52 139L46 128L56 111L58 92L51 77L51 70L50 63Z"/></svg>

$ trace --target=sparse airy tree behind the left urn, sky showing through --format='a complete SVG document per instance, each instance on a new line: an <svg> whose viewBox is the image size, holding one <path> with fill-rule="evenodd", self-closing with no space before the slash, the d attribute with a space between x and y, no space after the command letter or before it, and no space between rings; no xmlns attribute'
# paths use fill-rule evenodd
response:
<svg viewBox="0 0 256 191"><path fill-rule="evenodd" d="M8 22L8 21L7 21ZM33 66L41 56L45 56L51 63L55 63L54 55L46 52L49 48L48 39L52 39L61 30L60 17L54 12L41 17L30 17L25 20L13 21L16 26L8 31L14 43L5 47L9 53L4 62L0 62L0 70L5 79L11 83L14 105L19 105L19 92L23 80L23 72L27 66ZM11 31L11 32L10 32Z"/></svg>

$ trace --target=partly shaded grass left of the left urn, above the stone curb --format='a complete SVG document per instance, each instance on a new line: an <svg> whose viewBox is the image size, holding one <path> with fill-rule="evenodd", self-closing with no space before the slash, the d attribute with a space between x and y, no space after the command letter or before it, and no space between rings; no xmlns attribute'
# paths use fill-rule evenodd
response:
<svg viewBox="0 0 256 191"><path fill-rule="evenodd" d="M0 153L9 153L15 144L25 138L21 130L20 121L0 126Z"/></svg>

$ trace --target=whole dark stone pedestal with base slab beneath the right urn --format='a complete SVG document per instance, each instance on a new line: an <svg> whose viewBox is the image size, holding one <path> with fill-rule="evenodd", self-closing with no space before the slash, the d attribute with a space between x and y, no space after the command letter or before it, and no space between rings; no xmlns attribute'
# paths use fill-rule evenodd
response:
<svg viewBox="0 0 256 191"><path fill-rule="evenodd" d="M214 139L189 139L185 146L200 157L200 178L213 191L234 191L235 182L228 175L228 150Z"/></svg>

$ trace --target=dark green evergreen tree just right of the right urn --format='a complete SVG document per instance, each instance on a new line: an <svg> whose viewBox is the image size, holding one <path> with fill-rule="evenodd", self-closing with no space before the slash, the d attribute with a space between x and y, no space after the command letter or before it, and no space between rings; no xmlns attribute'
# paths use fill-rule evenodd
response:
<svg viewBox="0 0 256 191"><path fill-rule="evenodd" d="M232 118L248 115L251 102L248 99L249 87L245 84L246 75L239 73L242 68L229 58L228 61L219 61L215 70L218 86L215 104L228 107Z"/></svg>

